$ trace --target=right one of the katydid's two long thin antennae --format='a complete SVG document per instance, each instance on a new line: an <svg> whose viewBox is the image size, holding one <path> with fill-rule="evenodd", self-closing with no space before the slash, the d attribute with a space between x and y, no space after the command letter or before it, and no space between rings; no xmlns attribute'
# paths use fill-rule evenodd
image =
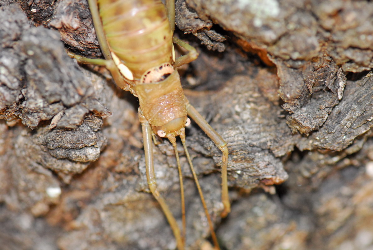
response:
<svg viewBox="0 0 373 250"><path fill-rule="evenodd" d="M202 201L202 206L203 206L203 209L205 210L207 221L209 222L211 238L212 238L213 243L214 243L214 248L220 250L219 243L217 242L216 234L215 234L215 231L214 231L214 226L212 224L211 217L210 217L210 214L209 214L209 210L207 210L206 201L205 201L205 198L203 197L203 193L202 193L200 183L198 182L198 178L197 178L197 175L194 171L194 167L193 167L192 161L190 159L188 149L186 148L186 145L185 145L185 129L181 130L180 138L181 138L181 142L183 143L183 146L184 146L184 151L185 151L185 154L186 154L186 158L188 158L189 166L190 166L190 169L191 169L192 174L193 174L195 185L197 186L198 193L200 194L200 198L201 198L201 201Z"/></svg>

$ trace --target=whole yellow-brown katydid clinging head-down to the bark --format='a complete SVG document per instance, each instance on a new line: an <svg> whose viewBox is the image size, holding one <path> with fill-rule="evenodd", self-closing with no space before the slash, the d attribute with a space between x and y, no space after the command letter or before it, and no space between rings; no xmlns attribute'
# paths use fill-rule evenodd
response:
<svg viewBox="0 0 373 250"><path fill-rule="evenodd" d="M178 249L185 244L184 189L176 136L181 138L195 183L209 222L214 246L219 248L213 224L185 145L185 127L191 117L222 151L222 217L230 212L227 185L228 148L222 137L207 123L184 96L177 67L198 57L196 50L178 38L175 29L175 0L88 0L97 39L105 59L89 59L70 54L83 64L104 65L116 84L140 101L138 115L144 140L146 175L149 189L159 202L176 238ZM173 43L188 53L175 58ZM157 190L153 167L155 136L168 138L175 150L182 200L181 231L175 217Z"/></svg>

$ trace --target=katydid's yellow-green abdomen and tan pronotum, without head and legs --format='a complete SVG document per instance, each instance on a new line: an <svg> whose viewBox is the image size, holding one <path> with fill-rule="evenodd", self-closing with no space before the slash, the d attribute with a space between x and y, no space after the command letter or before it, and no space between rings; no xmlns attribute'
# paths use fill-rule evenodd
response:
<svg viewBox="0 0 373 250"><path fill-rule="evenodd" d="M162 126L186 116L184 92L176 69L162 81L141 81L152 68L174 63L173 34L163 3L160 0L98 0L98 7L110 52L132 72L134 79L124 77L124 80L138 96L149 123Z"/></svg>

